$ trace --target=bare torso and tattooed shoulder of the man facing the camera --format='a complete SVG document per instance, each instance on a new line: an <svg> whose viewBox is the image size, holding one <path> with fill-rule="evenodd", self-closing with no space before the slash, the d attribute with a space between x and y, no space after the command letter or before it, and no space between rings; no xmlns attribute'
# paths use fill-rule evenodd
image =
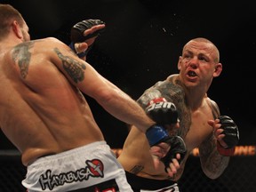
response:
<svg viewBox="0 0 256 192"><path fill-rule="evenodd" d="M148 91L151 93L148 93L148 91L144 92L144 96L140 97L139 102L143 108L146 108L149 100L152 100L156 95L161 96L166 100L172 101L179 114L182 114L179 116L180 129L178 134L183 139L185 138L188 153L181 164L179 172L175 175L175 178L172 178L172 180L179 180L191 151L199 146L204 148L202 143L212 136L212 127L207 124L207 121L213 119L213 115L211 101L207 97L204 98L201 107L195 111L188 108L185 101L185 93L179 84L174 83L175 78L173 77L173 79L168 79L149 88ZM158 91L152 91L152 89L157 89ZM136 127L132 127L127 140L125 140L123 152L118 157L118 161L124 166L126 171L138 176L156 180L170 179L168 174L164 172L164 164L157 170L154 168L152 157L148 151L148 140L145 134L138 131Z"/></svg>

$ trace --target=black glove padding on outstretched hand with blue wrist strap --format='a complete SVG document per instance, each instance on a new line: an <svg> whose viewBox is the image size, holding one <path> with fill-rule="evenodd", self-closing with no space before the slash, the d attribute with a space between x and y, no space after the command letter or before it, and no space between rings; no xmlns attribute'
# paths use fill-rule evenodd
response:
<svg viewBox="0 0 256 192"><path fill-rule="evenodd" d="M161 159L161 161L165 165L165 172L167 172L167 167L169 167L169 164L172 161L172 159L176 158L177 154L180 154L180 159L177 159L180 164L180 162L186 156L187 147L184 140L180 136L172 136L166 140L162 140L162 142L166 142L171 146L171 149L168 151L167 155Z"/></svg>

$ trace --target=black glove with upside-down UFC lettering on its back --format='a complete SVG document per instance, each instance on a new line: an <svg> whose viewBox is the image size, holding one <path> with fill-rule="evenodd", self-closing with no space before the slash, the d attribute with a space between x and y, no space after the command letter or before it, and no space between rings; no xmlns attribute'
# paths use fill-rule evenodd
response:
<svg viewBox="0 0 256 192"><path fill-rule="evenodd" d="M176 124L178 121L175 105L164 98L151 100L146 108L146 113L156 124Z"/></svg>

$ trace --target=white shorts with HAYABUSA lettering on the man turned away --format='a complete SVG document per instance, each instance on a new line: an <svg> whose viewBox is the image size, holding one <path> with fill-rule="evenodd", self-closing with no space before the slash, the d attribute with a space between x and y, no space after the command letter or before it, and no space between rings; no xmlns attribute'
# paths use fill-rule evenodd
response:
<svg viewBox="0 0 256 192"><path fill-rule="evenodd" d="M38 158L28 165L22 185L28 192L132 192L106 141Z"/></svg>

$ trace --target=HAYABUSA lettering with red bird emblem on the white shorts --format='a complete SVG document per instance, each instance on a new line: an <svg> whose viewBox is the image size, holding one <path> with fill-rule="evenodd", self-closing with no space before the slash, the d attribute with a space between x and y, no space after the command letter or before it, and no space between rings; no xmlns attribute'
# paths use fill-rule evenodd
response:
<svg viewBox="0 0 256 192"><path fill-rule="evenodd" d="M63 186L65 183L81 182L89 180L90 177L104 177L104 165L99 159L86 160L85 164L84 168L70 172L61 172L60 174L52 174L52 170L46 170L39 178L41 188L43 190L46 188L52 190L58 186Z"/></svg>

